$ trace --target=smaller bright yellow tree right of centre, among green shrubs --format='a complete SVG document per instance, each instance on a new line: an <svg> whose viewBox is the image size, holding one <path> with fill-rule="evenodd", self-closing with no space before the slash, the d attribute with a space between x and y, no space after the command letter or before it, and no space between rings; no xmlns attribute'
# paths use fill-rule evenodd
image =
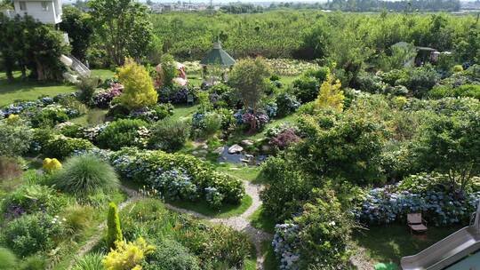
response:
<svg viewBox="0 0 480 270"><path fill-rule="evenodd" d="M340 113L343 110L343 99L345 99L340 87L340 80L333 80L333 75L328 74L326 80L320 86L316 106Z"/></svg>

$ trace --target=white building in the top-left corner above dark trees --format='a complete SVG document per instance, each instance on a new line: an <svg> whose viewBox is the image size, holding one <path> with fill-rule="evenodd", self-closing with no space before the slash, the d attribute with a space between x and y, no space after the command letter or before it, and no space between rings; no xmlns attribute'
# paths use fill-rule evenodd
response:
<svg viewBox="0 0 480 270"><path fill-rule="evenodd" d="M13 0L13 6L14 12L4 13L10 17L27 14L44 24L57 24L61 21L61 0Z"/></svg>

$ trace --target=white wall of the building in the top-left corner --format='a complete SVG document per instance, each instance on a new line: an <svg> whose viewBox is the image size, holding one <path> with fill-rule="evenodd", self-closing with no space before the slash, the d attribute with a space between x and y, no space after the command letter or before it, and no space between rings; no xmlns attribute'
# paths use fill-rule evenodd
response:
<svg viewBox="0 0 480 270"><path fill-rule="evenodd" d="M23 1L25 2L27 6L26 11L21 11L20 10L20 2L22 1L17 1L15 0L13 5L15 7L15 12L17 12L20 15L25 15L28 14L29 16L32 16L36 20L41 21L42 23L47 23L47 24L57 24L61 21L61 6L60 8L55 6L55 4L58 4L59 2L56 1L57 3L54 4L52 0L50 1ZM45 3L47 5L47 10L44 11L44 8L42 6L42 3ZM60 12L59 12L60 11Z"/></svg>

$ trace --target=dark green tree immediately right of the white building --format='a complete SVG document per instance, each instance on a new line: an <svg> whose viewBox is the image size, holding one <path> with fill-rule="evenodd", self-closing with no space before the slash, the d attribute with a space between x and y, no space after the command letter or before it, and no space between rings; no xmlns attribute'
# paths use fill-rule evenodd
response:
<svg viewBox="0 0 480 270"><path fill-rule="evenodd" d="M63 7L60 29L68 33L72 54L79 60L85 60L85 55L92 41L93 27L90 15L81 12L72 5Z"/></svg>

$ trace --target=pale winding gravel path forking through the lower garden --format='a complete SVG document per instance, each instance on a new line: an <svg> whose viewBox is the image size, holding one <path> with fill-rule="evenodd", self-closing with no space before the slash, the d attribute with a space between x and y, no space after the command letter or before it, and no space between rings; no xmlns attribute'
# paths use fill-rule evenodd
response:
<svg viewBox="0 0 480 270"><path fill-rule="evenodd" d="M197 213L196 211L193 211L193 210L186 210L186 209L173 206L172 204L169 204L169 203L165 203L165 206L170 210L189 214L196 218L202 218L215 224L229 226L235 229L236 231L247 234L250 237L253 244L255 245L255 250L257 251L257 269L262 270L264 256L261 253L261 243L265 240L270 239L272 235L253 227L250 224L250 221L248 218L252 215L253 212L255 212L255 210L258 210L259 207L261 206L260 190L263 187L261 185L255 185L247 181L244 181L244 185L245 185L246 194L252 197L252 205L247 210L245 210L244 213L242 213L240 216L231 217L231 218L212 218L212 217L208 217L203 214ZM118 205L119 210L122 210L125 206L129 205L130 203L134 203L138 201L141 197L141 195L137 191L129 187L122 186L122 189L129 196L129 199L124 203L121 203ZM102 231L105 228L105 226L106 226L106 222L103 222L102 224L100 224L99 231ZM86 254L89 250L92 250L93 246L95 246L97 242L100 241L100 239L101 239L101 234L97 234L93 236L88 242L85 243L82 249L78 250L77 257L80 258L84 256L84 254ZM68 267L68 269L70 268L71 266Z"/></svg>

